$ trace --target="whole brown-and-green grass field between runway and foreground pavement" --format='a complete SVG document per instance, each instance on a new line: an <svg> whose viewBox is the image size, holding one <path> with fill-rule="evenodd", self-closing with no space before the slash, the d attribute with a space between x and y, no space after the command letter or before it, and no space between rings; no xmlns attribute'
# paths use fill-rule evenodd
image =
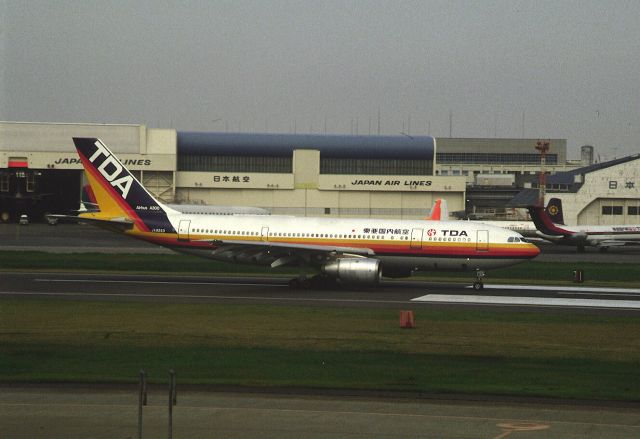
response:
<svg viewBox="0 0 640 439"><path fill-rule="evenodd" d="M0 380L640 400L640 321L578 313L0 301Z"/></svg>

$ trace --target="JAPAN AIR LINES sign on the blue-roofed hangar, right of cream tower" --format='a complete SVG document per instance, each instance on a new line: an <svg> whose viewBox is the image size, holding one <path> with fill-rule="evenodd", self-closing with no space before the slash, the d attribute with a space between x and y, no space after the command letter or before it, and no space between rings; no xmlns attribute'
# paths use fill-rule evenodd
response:
<svg viewBox="0 0 640 439"><path fill-rule="evenodd" d="M435 175L329 175L321 174L319 189L348 191L440 192L465 190L465 177Z"/></svg>

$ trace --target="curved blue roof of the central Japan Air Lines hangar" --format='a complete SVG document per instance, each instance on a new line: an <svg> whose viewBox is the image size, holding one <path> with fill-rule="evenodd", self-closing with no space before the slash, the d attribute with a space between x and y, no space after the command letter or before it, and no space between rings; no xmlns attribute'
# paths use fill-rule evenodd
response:
<svg viewBox="0 0 640 439"><path fill-rule="evenodd" d="M432 160L434 143L430 136L178 132L178 154L184 155L291 156L295 149L314 149L330 158Z"/></svg>

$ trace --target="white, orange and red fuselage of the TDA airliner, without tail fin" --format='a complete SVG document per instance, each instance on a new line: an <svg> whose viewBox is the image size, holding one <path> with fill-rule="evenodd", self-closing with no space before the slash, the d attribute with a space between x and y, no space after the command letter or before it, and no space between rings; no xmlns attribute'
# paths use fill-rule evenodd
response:
<svg viewBox="0 0 640 439"><path fill-rule="evenodd" d="M275 215L169 215L174 231L137 228L134 237L212 259L268 264L268 245L341 248L379 259L387 272L415 270L487 270L530 259L539 250L517 233L462 221L334 219ZM220 244L260 243L246 253L218 252ZM369 252L370 251L370 252ZM324 261L308 261L321 265ZM384 273L383 271L383 273Z"/></svg>

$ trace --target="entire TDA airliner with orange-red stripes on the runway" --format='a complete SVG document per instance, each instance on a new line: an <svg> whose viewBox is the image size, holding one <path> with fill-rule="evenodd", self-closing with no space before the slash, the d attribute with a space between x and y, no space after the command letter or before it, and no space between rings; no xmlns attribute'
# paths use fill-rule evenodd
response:
<svg viewBox="0 0 640 439"><path fill-rule="evenodd" d="M377 284L417 270L475 272L534 258L519 233L461 221L306 218L182 213L156 200L96 138L73 139L99 212L78 217L182 253L271 267L302 265L321 274L300 283Z"/></svg>

